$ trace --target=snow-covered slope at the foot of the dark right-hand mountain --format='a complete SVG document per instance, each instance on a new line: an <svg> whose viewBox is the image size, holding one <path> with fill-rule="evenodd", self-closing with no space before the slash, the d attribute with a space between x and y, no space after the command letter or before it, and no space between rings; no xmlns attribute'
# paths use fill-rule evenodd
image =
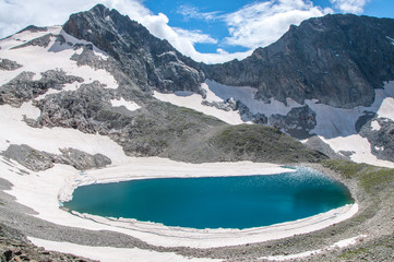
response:
<svg viewBox="0 0 394 262"><path fill-rule="evenodd" d="M371 145L368 139L361 136L359 131L356 130L357 121L362 116L366 116L366 112L369 115L375 114L374 119L394 120L393 82L386 83L384 90L375 90L375 100L370 107L359 106L351 109L335 108L318 100L306 100L303 105L300 105L290 98L287 99L287 105L285 105L274 98L259 99L256 97L258 90L253 87L227 86L210 80L202 84L202 88L206 91L205 98L193 93L162 94L155 92L154 96L177 106L188 107L217 117L230 124L251 123L254 116L264 115L267 119L265 124L275 126L275 117L273 116L280 115L285 118L291 109L308 106L315 118L314 127L307 130L310 135L318 135L335 153L344 154L344 156L350 155L350 158L357 163L394 167L393 162L379 159L372 154L371 151L374 145ZM232 105L238 103L243 107L226 106L229 102L232 102ZM223 105L223 107L215 105ZM296 129L302 129L301 126L295 124ZM372 120L370 124L372 131L380 130L377 120ZM280 128L286 132L288 127ZM303 141L307 142L308 140L305 139ZM384 150L384 146L378 150Z"/></svg>

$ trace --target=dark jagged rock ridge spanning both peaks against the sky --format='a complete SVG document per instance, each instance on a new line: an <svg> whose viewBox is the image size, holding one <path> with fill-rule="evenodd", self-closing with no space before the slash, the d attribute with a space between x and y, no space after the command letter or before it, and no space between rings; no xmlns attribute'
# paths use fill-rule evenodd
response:
<svg viewBox="0 0 394 262"><path fill-rule="evenodd" d="M242 61L196 63L128 16L102 4L73 14L63 26L121 61L136 83L162 92L204 95L205 79L252 86L264 97L302 104L318 99L334 107L370 106L374 88L394 80L394 21L351 14L310 19Z"/></svg>

